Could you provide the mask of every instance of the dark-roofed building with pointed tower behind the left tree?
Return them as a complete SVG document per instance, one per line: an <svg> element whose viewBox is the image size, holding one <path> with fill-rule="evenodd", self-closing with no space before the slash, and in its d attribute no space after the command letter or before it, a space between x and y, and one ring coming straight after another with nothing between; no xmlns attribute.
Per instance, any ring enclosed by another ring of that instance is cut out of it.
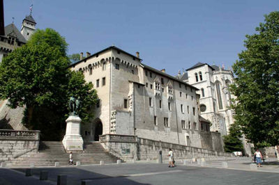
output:
<svg viewBox="0 0 279 185"><path fill-rule="evenodd" d="M23 19L21 31L14 23L5 26L2 35L0 35L0 63L4 56L27 43L27 40L36 31L35 26L36 22L31 14Z"/></svg>

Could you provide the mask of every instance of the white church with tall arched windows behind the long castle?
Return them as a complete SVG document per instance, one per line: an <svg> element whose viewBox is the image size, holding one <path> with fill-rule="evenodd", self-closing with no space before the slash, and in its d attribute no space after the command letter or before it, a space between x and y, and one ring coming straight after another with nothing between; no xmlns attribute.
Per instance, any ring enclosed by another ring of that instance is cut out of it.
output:
<svg viewBox="0 0 279 185"><path fill-rule="evenodd" d="M212 123L211 131L227 135L229 125L234 122L231 108L234 95L229 92L229 84L234 81L232 71L216 65L197 63L183 74L179 72L177 77L199 89L197 93L200 95L201 115Z"/></svg>

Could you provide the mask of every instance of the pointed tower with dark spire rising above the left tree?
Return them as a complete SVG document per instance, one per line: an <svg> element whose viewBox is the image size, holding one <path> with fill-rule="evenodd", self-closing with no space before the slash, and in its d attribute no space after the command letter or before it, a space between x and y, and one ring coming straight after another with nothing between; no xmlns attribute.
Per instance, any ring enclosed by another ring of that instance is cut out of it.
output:
<svg viewBox="0 0 279 185"><path fill-rule="evenodd" d="M22 21L22 29L20 30L20 33L24 36L26 40L29 40L30 36L33 34L34 31L36 31L36 22L33 19L31 13L25 19Z"/></svg>

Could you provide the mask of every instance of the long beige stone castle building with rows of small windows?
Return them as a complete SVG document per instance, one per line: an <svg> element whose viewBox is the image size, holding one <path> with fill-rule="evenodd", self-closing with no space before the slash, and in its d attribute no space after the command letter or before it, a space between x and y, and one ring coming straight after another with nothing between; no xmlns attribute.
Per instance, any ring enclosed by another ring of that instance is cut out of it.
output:
<svg viewBox="0 0 279 185"><path fill-rule="evenodd" d="M210 122L199 115L198 88L145 65L138 52L112 46L82 55L70 69L82 71L99 97L94 120L82 125L84 140L134 135L223 151L220 133L211 132Z"/></svg>

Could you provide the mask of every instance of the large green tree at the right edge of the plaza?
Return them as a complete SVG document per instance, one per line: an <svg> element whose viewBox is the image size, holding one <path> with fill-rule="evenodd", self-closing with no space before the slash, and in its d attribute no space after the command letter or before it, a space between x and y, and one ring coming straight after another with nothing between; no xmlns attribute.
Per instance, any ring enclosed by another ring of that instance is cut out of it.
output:
<svg viewBox="0 0 279 185"><path fill-rule="evenodd" d="M259 146L279 143L279 12L265 15L246 50L233 65L231 86L236 95L235 120L250 142Z"/></svg>

